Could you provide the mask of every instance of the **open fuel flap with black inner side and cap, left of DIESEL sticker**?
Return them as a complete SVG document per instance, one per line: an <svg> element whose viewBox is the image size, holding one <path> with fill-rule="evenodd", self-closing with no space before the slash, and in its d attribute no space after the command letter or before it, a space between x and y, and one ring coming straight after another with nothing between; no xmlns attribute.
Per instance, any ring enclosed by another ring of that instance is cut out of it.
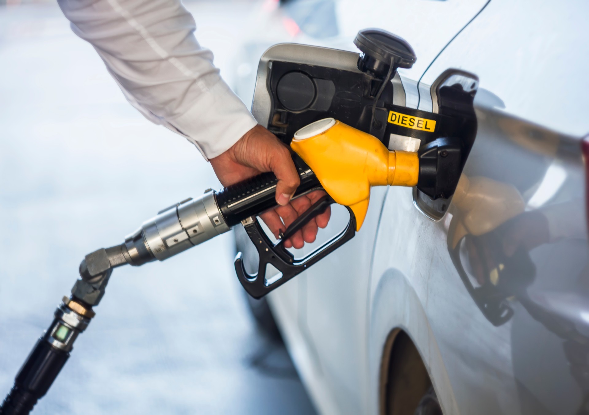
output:
<svg viewBox="0 0 589 415"><path fill-rule="evenodd" d="M416 56L406 41L379 29L360 31L355 44L362 53L294 43L264 52L252 104L257 121L286 144L298 129L329 117L388 144L383 107L393 103L395 89L389 81Z"/></svg>

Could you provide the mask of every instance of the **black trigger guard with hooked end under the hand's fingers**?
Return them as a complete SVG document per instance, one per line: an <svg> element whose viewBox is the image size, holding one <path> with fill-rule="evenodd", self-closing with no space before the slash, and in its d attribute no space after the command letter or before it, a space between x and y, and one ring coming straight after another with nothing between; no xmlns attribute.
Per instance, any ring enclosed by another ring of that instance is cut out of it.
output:
<svg viewBox="0 0 589 415"><path fill-rule="evenodd" d="M295 259L292 253L288 252L284 248L283 241L292 236L297 230L303 227L310 219L325 212L327 206L333 202L329 196L324 196L319 199L313 206L311 206L303 215L295 220L289 229L287 229L282 238L276 243L272 243L269 237L260 226L260 223L254 216L250 216L243 221L244 229L246 230L247 236L250 237L254 245L256 246L257 252L260 256L260 262L258 265L257 273L249 274L244 266L241 252L237 253L235 257L235 272L237 278L247 291L250 296L259 299L265 296L272 290L280 287L288 280L299 275L301 272L312 266L314 263L329 255L337 248L348 242L356 235L356 217L354 216L352 209L346 206L350 213L350 220L348 225L342 232L338 233L332 239L325 242L322 246L310 252L303 258ZM275 267L282 276L277 279L266 279L266 268L268 265Z"/></svg>

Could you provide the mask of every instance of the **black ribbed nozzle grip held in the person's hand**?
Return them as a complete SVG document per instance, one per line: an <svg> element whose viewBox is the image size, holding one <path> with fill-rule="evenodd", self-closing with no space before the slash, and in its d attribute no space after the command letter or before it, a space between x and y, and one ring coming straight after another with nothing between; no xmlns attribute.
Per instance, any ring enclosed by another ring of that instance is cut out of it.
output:
<svg viewBox="0 0 589 415"><path fill-rule="evenodd" d="M321 188L319 180L309 167L299 165L297 169L300 185L294 197ZM219 190L215 198L227 225L229 227L237 225L241 220L276 207L277 182L274 173L262 173Z"/></svg>

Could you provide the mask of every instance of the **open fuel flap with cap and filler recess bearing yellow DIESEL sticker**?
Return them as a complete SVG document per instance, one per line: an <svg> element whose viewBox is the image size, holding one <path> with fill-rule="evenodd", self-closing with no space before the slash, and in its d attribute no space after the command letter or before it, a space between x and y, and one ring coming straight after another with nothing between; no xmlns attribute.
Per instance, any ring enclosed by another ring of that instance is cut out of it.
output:
<svg viewBox="0 0 589 415"><path fill-rule="evenodd" d="M380 29L360 31L354 43L361 53L272 46L260 60L252 113L287 145L303 126L332 117L375 136L389 150L418 152L413 197L423 213L439 219L474 141L478 78L449 69L431 86L432 111L408 108L396 69L416 61L411 46Z"/></svg>

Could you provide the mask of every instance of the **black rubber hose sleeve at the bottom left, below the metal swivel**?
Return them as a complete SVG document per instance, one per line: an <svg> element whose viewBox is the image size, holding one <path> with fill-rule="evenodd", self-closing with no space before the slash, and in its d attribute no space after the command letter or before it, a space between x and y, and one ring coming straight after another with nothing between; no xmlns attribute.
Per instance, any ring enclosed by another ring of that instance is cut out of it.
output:
<svg viewBox="0 0 589 415"><path fill-rule="evenodd" d="M39 339L16 375L14 386L0 407L0 415L31 412L37 401L47 393L68 357L70 353Z"/></svg>

